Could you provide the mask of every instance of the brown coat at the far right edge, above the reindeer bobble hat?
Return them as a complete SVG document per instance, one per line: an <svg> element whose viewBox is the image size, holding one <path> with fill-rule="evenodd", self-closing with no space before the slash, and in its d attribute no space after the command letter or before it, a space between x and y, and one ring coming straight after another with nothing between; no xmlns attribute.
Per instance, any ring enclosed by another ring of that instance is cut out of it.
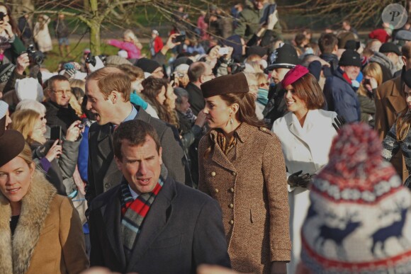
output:
<svg viewBox="0 0 411 274"><path fill-rule="evenodd" d="M381 86L378 87L375 101L376 101L376 130L378 135L383 141L385 135L394 125L395 120L397 120L398 113L407 108L407 103L405 103L405 95L403 90L404 83L401 81L401 76L395 79L385 81ZM395 170L400 176L402 176L402 181L408 177L408 171L405 167L404 157L402 156L401 150L393 156L391 159L391 164L395 167Z"/></svg>

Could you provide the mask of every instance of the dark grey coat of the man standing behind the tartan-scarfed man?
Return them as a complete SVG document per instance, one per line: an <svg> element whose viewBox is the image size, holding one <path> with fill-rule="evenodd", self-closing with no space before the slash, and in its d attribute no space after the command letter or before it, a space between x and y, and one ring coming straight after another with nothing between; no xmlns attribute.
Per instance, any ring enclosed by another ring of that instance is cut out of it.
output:
<svg viewBox="0 0 411 274"><path fill-rule="evenodd" d="M154 127L162 144L162 160L169 170L169 176L176 181L185 181L184 152L179 142L174 138L171 127L162 120L152 118L139 106L136 120L148 122ZM121 181L113 152L113 134L111 123L98 125L94 123L89 130L89 164L87 174L89 182L86 185L86 199L91 202L97 195L106 192Z"/></svg>

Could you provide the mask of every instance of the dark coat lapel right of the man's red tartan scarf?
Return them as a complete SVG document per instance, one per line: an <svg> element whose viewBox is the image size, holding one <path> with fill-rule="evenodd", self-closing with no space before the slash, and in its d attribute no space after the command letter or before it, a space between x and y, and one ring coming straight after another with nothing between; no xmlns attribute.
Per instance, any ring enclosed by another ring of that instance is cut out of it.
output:
<svg viewBox="0 0 411 274"><path fill-rule="evenodd" d="M135 243L133 253L131 253L130 256L127 272L132 272L132 270L135 269L135 264L140 261L140 258L145 254L147 249L150 248L152 242L162 233L164 227L166 227L167 221L173 213L171 202L175 196L175 182L167 178L142 224L142 230Z"/></svg>

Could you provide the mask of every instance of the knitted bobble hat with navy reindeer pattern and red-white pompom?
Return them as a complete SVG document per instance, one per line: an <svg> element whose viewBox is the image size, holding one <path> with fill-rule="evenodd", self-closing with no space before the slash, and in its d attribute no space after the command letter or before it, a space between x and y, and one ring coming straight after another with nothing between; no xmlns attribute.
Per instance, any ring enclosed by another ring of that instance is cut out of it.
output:
<svg viewBox="0 0 411 274"><path fill-rule="evenodd" d="M342 127L301 229L312 273L411 273L411 193L368 125Z"/></svg>

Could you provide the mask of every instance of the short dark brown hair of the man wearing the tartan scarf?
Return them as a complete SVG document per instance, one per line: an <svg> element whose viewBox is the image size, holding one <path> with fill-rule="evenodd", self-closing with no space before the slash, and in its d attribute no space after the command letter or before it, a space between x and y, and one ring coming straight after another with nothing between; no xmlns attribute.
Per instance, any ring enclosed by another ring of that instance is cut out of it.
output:
<svg viewBox="0 0 411 274"><path fill-rule="evenodd" d="M161 147L159 137L156 130L152 125L141 120L130 120L127 122L122 122L114 131L113 134L113 151L114 155L123 160L123 155L121 154L121 145L123 140L126 139L128 142L133 144L133 146L140 146L146 142L147 135L154 139L156 144L157 152Z"/></svg>

